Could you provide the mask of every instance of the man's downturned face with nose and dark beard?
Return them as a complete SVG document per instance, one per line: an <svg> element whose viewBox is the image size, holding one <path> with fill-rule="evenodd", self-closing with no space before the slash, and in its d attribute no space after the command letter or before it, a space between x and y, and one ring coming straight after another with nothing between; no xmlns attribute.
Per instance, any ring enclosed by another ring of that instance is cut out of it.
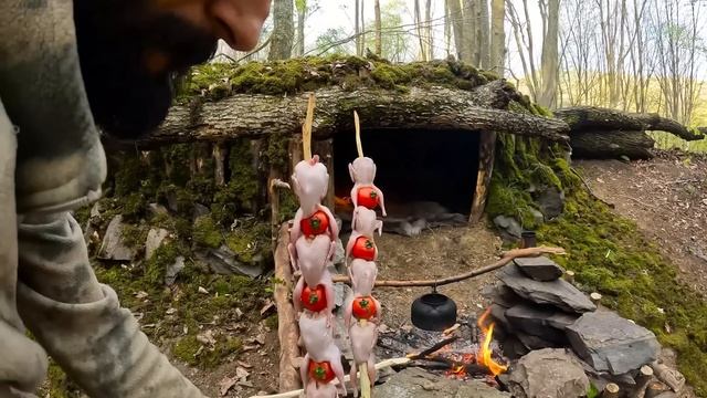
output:
<svg viewBox="0 0 707 398"><path fill-rule="evenodd" d="M81 70L96 124L119 138L157 127L171 81L217 40L251 50L271 0L74 0Z"/></svg>

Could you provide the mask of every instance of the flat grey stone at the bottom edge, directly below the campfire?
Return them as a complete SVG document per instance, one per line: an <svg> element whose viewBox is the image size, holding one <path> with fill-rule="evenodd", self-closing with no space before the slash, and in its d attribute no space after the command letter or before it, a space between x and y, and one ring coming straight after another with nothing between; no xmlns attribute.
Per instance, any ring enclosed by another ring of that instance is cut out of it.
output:
<svg viewBox="0 0 707 398"><path fill-rule="evenodd" d="M461 381L434 375L421 368L405 368L373 387L372 396L386 398L503 398L508 392L481 380Z"/></svg>

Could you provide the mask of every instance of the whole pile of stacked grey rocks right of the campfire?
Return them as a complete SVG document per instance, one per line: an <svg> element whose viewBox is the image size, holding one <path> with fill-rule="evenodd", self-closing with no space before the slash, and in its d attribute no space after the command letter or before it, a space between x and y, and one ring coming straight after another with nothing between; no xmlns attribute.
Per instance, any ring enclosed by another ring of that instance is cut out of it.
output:
<svg viewBox="0 0 707 398"><path fill-rule="evenodd" d="M655 335L598 308L563 273L545 256L517 259L485 292L504 355L518 359L502 381L515 397L577 397L589 381L635 392L642 367L657 366Z"/></svg>

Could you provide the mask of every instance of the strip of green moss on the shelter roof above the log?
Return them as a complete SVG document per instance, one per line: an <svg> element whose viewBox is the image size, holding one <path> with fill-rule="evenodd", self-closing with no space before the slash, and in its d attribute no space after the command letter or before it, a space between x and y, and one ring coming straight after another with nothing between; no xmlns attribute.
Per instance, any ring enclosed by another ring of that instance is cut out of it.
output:
<svg viewBox="0 0 707 398"><path fill-rule="evenodd" d="M409 86L436 84L472 90L496 78L498 76L493 72L479 72L458 62L392 64L376 56L361 59L335 54L266 63L197 66L178 86L177 101L192 104L196 97L217 101L234 93L292 95L326 86L349 91L359 87L407 91Z"/></svg>

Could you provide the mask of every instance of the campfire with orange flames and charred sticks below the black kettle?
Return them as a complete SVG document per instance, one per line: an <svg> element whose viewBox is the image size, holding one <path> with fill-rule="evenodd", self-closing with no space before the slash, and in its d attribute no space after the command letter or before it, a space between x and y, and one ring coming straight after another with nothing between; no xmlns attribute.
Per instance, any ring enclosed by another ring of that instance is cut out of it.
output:
<svg viewBox="0 0 707 398"><path fill-rule="evenodd" d="M494 323L486 311L476 322L461 321L453 331L429 332L414 326L381 333L381 357L411 356L413 366L458 380L478 379L497 386L496 376L507 367L494 342ZM430 342L439 342L430 346ZM426 346L426 347L425 347ZM410 354L416 353L416 354Z"/></svg>

